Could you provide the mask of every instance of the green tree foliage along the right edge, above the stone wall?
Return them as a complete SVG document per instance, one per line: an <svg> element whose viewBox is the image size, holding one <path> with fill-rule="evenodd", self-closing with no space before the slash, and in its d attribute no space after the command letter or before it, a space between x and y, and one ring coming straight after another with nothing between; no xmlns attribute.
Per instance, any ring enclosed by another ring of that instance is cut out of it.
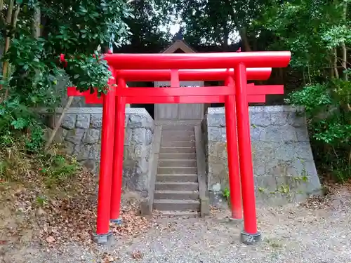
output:
<svg viewBox="0 0 351 263"><path fill-rule="evenodd" d="M263 25L277 39L270 48L292 51L303 75L287 102L305 106L315 158L338 180L351 175L351 45L349 0L299 0L265 9Z"/></svg>

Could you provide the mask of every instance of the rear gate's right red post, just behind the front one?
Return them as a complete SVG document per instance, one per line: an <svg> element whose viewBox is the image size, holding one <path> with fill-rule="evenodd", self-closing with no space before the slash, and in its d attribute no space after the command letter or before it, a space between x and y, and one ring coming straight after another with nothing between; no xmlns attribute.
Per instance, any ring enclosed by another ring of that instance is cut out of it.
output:
<svg viewBox="0 0 351 263"><path fill-rule="evenodd" d="M227 76L225 86L234 88L234 79ZM238 159L238 140L237 140L237 116L235 113L234 95L225 96L225 127L227 131L227 155L228 155L228 174L230 185L230 208L232 210L232 220L242 218L241 210L241 189Z"/></svg>

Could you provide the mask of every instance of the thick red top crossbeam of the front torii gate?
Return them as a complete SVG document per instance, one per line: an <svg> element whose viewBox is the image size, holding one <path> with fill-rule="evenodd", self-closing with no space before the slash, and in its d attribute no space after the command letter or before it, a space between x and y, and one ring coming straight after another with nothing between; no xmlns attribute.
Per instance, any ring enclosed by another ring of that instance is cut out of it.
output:
<svg viewBox="0 0 351 263"><path fill-rule="evenodd" d="M289 51L105 54L114 69L231 69L243 63L248 67L287 67Z"/></svg>

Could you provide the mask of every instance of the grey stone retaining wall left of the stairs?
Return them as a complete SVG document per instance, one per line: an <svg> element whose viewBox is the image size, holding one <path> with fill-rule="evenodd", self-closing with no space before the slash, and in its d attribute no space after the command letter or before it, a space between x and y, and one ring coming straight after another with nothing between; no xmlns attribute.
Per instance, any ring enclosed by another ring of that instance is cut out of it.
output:
<svg viewBox="0 0 351 263"><path fill-rule="evenodd" d="M56 120L62 109L56 111ZM51 118L53 128L54 118ZM140 191L149 188L149 159L154 135L154 120L145 109L126 108L126 133L124 140L124 188ZM70 108L65 115L55 142L64 143L67 154L77 156L77 161L98 173L102 108Z"/></svg>

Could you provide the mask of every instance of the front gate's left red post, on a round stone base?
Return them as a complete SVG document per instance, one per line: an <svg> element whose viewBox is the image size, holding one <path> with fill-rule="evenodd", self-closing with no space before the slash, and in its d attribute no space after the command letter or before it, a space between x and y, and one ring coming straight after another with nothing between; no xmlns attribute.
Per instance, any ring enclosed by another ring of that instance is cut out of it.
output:
<svg viewBox="0 0 351 263"><path fill-rule="evenodd" d="M110 68L113 72L113 69ZM112 233L110 232L110 203L111 203L111 182L114 145L114 110L116 79L112 77L108 84L110 90L103 97L102 108L102 135L101 135L101 158L100 177L98 193L98 218L96 234L93 234L93 241L96 243L107 243Z"/></svg>

